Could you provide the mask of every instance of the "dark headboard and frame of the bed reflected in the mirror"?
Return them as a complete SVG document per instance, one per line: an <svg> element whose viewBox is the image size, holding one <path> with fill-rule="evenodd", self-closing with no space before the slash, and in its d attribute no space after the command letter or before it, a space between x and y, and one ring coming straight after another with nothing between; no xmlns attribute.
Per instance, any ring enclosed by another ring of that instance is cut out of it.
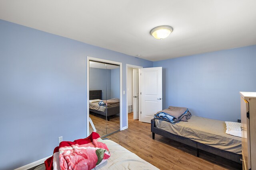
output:
<svg viewBox="0 0 256 170"><path fill-rule="evenodd" d="M89 91L89 100L94 100L94 99L102 100L102 90L90 90ZM94 115L96 113L100 114L100 115L104 115L104 116L107 115L108 121L110 121L110 116L120 113L120 105L106 107L105 111L98 111L98 110L94 110L94 109L90 109L90 108L89 108L89 111L94 113Z"/></svg>

